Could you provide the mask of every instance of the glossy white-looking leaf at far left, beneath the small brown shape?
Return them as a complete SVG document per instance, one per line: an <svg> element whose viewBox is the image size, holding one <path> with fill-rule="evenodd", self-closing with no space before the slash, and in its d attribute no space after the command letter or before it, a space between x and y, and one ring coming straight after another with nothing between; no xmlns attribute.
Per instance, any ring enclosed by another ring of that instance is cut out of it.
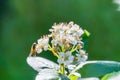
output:
<svg viewBox="0 0 120 80"><path fill-rule="evenodd" d="M32 57L29 56L27 57L27 63L36 71L40 72L43 69L54 69L54 70L58 70L59 66L58 64L42 58L42 57Z"/></svg>

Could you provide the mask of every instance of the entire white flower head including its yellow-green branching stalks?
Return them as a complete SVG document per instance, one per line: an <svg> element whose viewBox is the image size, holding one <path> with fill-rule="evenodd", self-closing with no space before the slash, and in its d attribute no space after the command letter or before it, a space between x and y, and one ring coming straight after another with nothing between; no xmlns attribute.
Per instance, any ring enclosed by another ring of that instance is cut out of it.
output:
<svg viewBox="0 0 120 80"><path fill-rule="evenodd" d="M82 35L85 31L73 22L54 24L50 34L38 39L36 52L41 53L43 50L49 50L58 58L57 62L64 65L76 66L85 62L88 58L87 53L83 50L84 43Z"/></svg>

